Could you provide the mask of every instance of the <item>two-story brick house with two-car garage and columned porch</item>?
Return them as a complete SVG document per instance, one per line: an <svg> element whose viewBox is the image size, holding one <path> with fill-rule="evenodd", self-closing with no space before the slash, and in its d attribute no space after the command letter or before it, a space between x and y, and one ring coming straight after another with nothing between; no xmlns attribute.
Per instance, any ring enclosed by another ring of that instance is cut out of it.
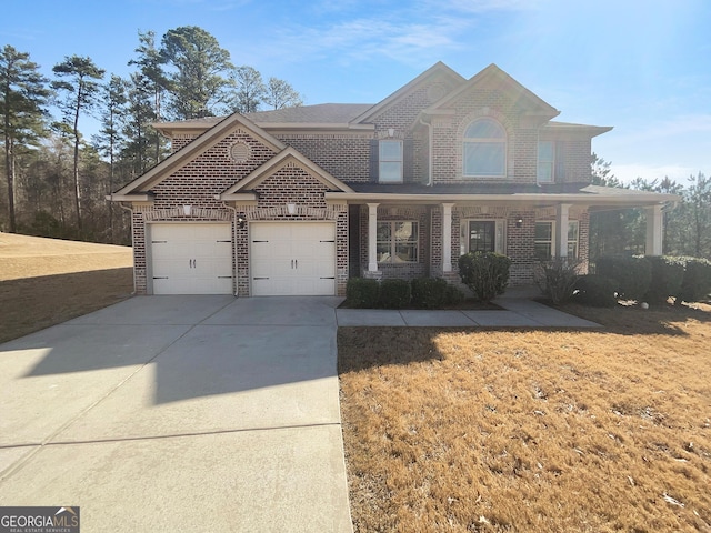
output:
<svg viewBox="0 0 711 533"><path fill-rule="evenodd" d="M344 294L349 276L457 280L461 253L588 257L592 210L644 207L648 253L675 197L590 184L610 128L491 64L437 63L377 104L157 124L172 154L113 193L130 207L138 293Z"/></svg>

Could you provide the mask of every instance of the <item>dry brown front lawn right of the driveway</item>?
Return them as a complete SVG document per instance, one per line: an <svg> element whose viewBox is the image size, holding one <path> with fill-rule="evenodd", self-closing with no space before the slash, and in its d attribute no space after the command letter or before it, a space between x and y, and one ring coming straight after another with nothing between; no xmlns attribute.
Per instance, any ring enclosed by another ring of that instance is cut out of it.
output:
<svg viewBox="0 0 711 533"><path fill-rule="evenodd" d="M356 530L711 531L711 308L339 330Z"/></svg>

